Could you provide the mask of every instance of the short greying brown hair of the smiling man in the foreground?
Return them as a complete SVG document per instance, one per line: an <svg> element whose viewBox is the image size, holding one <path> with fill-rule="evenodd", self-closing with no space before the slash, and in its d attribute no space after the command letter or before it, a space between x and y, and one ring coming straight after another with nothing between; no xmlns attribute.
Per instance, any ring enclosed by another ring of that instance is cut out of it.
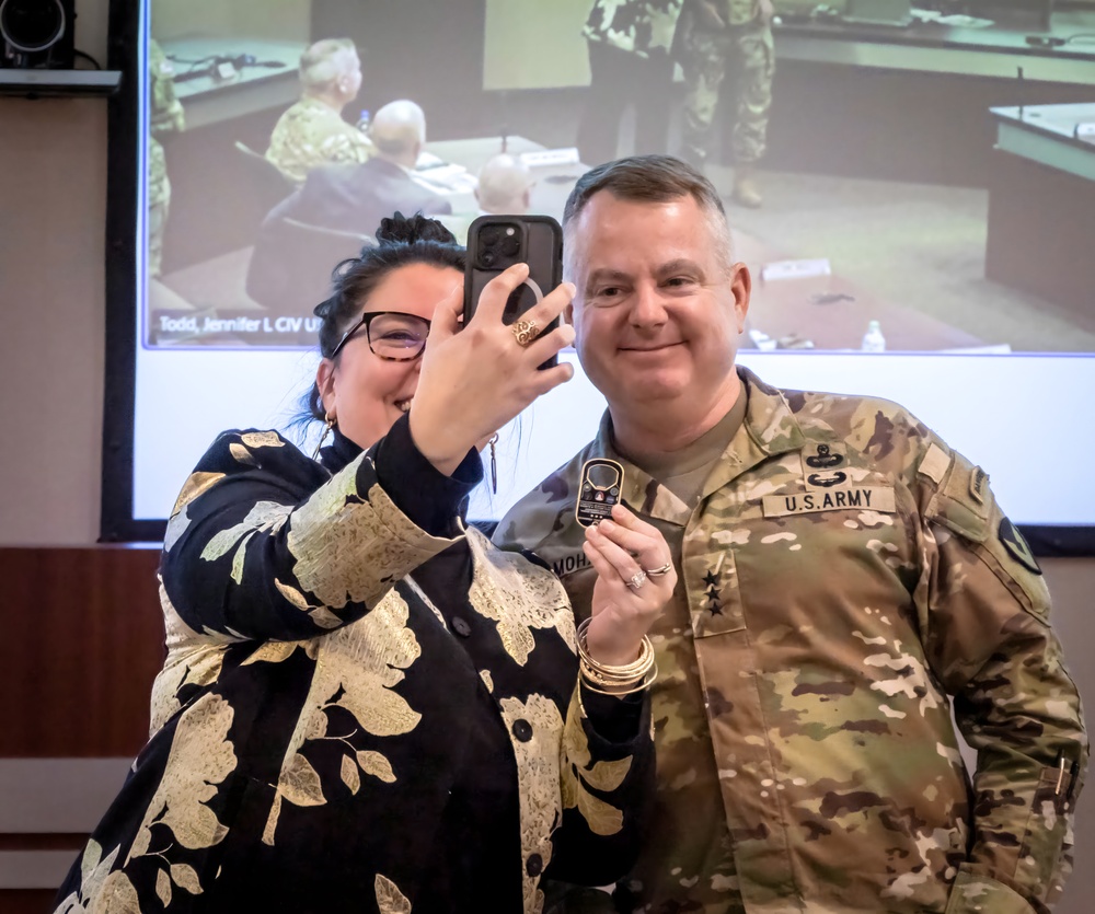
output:
<svg viewBox="0 0 1095 914"><path fill-rule="evenodd" d="M726 210L718 192L700 172L672 155L631 155L606 162L586 172L566 198L563 209L563 275L574 281L577 274L575 223L595 194L607 190L629 203L665 204L692 197L707 221L719 264L729 274L734 244Z"/></svg>

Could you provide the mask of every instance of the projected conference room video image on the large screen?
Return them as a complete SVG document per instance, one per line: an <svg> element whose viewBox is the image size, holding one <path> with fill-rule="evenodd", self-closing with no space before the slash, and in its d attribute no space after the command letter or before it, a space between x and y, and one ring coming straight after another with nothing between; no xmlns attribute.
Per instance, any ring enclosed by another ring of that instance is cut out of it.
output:
<svg viewBox="0 0 1095 914"><path fill-rule="evenodd" d="M141 345L314 348L332 269L377 228L354 182L403 170L392 209L462 239L669 152L724 196L747 349L1095 351L1095 2L774 0L699 102L681 4L601 21L616 5L151 4ZM499 155L523 200L492 186Z"/></svg>

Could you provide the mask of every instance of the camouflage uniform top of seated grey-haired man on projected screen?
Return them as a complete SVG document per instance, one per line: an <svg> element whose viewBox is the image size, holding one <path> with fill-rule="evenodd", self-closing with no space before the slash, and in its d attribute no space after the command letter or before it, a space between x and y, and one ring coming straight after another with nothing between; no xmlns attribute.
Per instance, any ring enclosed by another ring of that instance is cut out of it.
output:
<svg viewBox="0 0 1095 914"><path fill-rule="evenodd" d="M303 97L278 118L266 158L293 184L318 165L365 162L372 142L318 99Z"/></svg>

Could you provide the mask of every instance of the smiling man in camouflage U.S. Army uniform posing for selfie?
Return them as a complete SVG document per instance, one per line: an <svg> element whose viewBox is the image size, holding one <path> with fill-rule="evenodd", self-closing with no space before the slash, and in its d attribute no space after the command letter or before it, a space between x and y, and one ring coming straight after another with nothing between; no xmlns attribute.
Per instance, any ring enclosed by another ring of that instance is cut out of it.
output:
<svg viewBox="0 0 1095 914"><path fill-rule="evenodd" d="M538 553L587 614L575 496L610 458L680 576L652 633L657 810L618 910L1048 911L1087 737L1041 571L986 473L894 403L735 367L749 271L683 162L584 175L564 256L609 408L495 540Z"/></svg>

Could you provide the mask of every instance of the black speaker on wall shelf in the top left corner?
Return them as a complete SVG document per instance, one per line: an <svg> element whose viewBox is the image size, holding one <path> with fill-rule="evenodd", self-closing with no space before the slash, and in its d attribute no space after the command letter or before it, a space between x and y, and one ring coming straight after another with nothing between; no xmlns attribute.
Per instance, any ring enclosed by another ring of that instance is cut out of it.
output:
<svg viewBox="0 0 1095 914"><path fill-rule="evenodd" d="M0 67L72 69L76 0L0 0Z"/></svg>

